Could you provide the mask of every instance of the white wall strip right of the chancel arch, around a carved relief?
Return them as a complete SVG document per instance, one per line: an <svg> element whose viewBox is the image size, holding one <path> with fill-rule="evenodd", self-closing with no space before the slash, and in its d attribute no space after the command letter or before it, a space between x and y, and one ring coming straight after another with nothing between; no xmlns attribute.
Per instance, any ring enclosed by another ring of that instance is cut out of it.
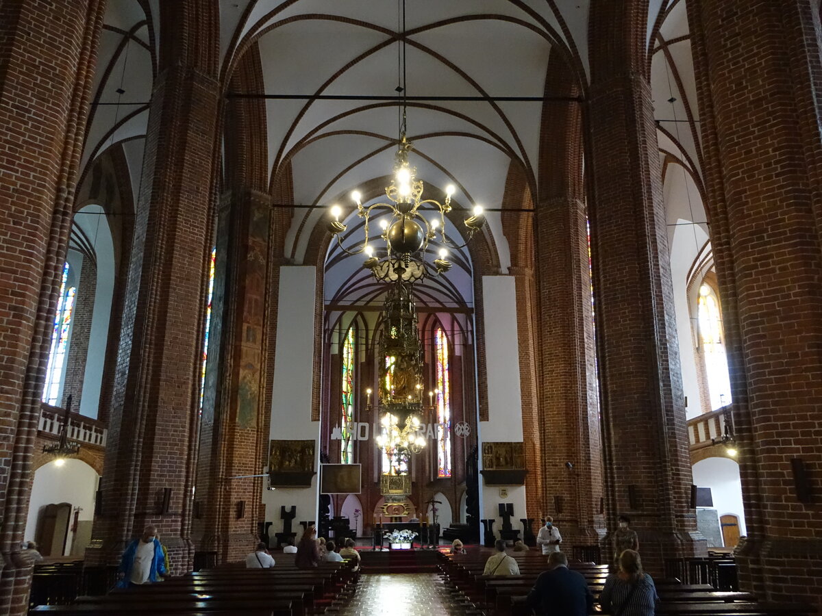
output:
<svg viewBox="0 0 822 616"><path fill-rule="evenodd" d="M522 391L520 390L520 347L516 324L514 278L483 276L483 312L485 319L485 357L487 365L488 421L481 421L479 443L522 442ZM483 456L479 456L482 469ZM480 513L483 519L496 519L494 531L499 536L502 518L498 503L514 504L514 520L525 517L525 486L507 486L506 499L499 486L485 485L480 476ZM518 522L512 522L514 528Z"/></svg>

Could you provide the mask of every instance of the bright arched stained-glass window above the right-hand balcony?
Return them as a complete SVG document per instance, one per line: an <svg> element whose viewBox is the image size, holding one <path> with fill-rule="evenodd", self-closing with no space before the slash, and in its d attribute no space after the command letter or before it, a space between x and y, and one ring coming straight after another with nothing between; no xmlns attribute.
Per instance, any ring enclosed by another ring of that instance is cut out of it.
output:
<svg viewBox="0 0 822 616"><path fill-rule="evenodd" d="M731 381L727 372L727 356L723 342L722 317L713 287L700 287L699 312L700 344L708 377L711 410L716 411L731 403Z"/></svg>

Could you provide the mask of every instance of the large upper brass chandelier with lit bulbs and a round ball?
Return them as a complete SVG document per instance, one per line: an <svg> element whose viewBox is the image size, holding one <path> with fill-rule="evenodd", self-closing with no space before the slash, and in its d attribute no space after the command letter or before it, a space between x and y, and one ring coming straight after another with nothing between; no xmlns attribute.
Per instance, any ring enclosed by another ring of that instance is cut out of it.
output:
<svg viewBox="0 0 822 616"><path fill-rule="evenodd" d="M440 203L434 199L423 200L423 181L418 180L416 169L409 165L409 151L413 144L400 136L397 150L394 177L389 186L386 186L388 202L363 206L362 195L353 191L351 198L357 204L357 215L365 219L365 240L353 248L343 246L342 234L348 229L347 225L339 222L343 209L339 205L332 205L330 214L334 220L329 224L329 231L337 238L339 247L349 255L365 253L367 259L363 267L370 269L374 277L383 282L415 283L425 278L427 274L439 275L451 269L447 259L448 250L459 249L468 245L473 235L483 228L485 216L483 206L474 205L473 215L464 220L467 240L463 244L455 243L446 233L446 214L451 211L451 196L454 195L454 186L446 187L446 200ZM381 240L386 243L386 256L378 257L371 243L371 218L375 210L388 210L389 219L381 220ZM429 220L421 211L429 209L433 217ZM433 241L439 241L440 249L433 265L424 258L417 258L419 252L425 253Z"/></svg>

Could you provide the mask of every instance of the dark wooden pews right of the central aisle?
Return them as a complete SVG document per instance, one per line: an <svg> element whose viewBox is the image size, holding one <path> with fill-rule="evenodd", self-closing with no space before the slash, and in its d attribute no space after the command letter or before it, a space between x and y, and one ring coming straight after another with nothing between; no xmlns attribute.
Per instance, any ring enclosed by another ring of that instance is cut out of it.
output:
<svg viewBox="0 0 822 616"><path fill-rule="evenodd" d="M492 549L477 546L468 546L467 554L443 552L441 572L450 585L485 609L488 616L528 616L531 610L525 605L525 597L538 575L545 571L547 557L537 549L521 553L509 551L508 554L517 559L522 575L485 576L485 561L493 553ZM598 602L608 566L571 563L570 568L585 577ZM677 578L663 578L655 579L654 584L660 599L656 613L660 616L807 616L815 613L807 605L763 603L750 593L719 591L706 583L687 584ZM596 608L598 614L607 614L599 605Z"/></svg>

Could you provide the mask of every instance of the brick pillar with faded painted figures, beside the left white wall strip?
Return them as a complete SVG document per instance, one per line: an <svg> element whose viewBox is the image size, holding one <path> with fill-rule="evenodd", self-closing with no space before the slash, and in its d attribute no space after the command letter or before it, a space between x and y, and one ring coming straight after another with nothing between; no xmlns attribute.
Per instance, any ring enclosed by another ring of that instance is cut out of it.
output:
<svg viewBox="0 0 822 616"><path fill-rule="evenodd" d="M257 522L265 521L265 478L223 479L262 473L268 433L260 435L270 413L263 395L270 375L262 361L268 338L270 197L235 189L225 200L229 207L221 213L217 232L224 282L212 312L215 333L219 331L215 342L223 351L209 353L218 382L214 405L203 409L196 499L204 521L195 523L196 536L201 537L198 548L216 550L219 562L247 554L256 541ZM211 348L217 351L214 345ZM242 509L240 501L245 503Z"/></svg>

